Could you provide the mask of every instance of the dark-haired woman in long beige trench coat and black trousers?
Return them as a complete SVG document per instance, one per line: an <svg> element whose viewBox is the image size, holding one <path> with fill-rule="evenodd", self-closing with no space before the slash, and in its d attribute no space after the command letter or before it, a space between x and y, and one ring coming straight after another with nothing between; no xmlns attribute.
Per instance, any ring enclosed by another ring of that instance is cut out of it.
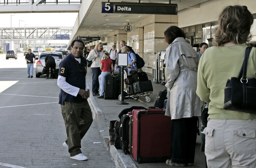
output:
<svg viewBox="0 0 256 168"><path fill-rule="evenodd" d="M203 102L196 94L199 55L185 41L185 33L177 26L164 32L166 48L165 75L168 99L165 115L170 116L172 151L167 165L194 165L197 122Z"/></svg>

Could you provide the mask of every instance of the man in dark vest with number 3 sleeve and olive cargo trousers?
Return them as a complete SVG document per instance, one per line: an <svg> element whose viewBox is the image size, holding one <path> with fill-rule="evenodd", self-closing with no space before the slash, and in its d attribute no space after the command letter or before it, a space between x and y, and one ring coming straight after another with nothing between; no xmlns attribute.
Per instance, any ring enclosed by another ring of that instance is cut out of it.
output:
<svg viewBox="0 0 256 168"><path fill-rule="evenodd" d="M93 122L87 99L90 90L87 80L86 60L82 57L84 43L74 40L71 53L59 64L59 104L66 126L67 138L63 146L69 150L70 158L87 160L81 152L81 139Z"/></svg>

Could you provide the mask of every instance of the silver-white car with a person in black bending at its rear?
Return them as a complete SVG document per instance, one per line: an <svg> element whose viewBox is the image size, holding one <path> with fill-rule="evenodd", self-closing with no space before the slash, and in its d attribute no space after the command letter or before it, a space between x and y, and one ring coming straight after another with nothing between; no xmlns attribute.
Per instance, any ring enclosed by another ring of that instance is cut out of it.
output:
<svg viewBox="0 0 256 168"><path fill-rule="evenodd" d="M36 63L36 77L39 78L41 75L44 75L43 73L43 68L45 66L45 57L47 55L51 55L53 56L53 58L55 59L55 63L56 63L56 72L59 72L59 63L62 61L62 59L64 58L62 52L56 52L56 51L49 51L49 52L42 52L38 59L37 59L37 63Z"/></svg>

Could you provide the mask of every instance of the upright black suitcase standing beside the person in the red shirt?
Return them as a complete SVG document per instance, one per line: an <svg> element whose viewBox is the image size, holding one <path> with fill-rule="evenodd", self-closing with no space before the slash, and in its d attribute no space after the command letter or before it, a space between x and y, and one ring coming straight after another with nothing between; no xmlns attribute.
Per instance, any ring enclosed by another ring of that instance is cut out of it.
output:
<svg viewBox="0 0 256 168"><path fill-rule="evenodd" d="M117 92L118 92L118 76L106 75L104 99L117 99L117 95L118 95Z"/></svg>

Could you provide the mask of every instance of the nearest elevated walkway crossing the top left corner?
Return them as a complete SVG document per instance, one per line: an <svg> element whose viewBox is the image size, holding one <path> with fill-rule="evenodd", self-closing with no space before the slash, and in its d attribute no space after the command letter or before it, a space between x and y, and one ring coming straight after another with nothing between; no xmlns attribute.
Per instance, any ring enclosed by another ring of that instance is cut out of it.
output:
<svg viewBox="0 0 256 168"><path fill-rule="evenodd" d="M0 0L0 13L79 12L82 0Z"/></svg>

